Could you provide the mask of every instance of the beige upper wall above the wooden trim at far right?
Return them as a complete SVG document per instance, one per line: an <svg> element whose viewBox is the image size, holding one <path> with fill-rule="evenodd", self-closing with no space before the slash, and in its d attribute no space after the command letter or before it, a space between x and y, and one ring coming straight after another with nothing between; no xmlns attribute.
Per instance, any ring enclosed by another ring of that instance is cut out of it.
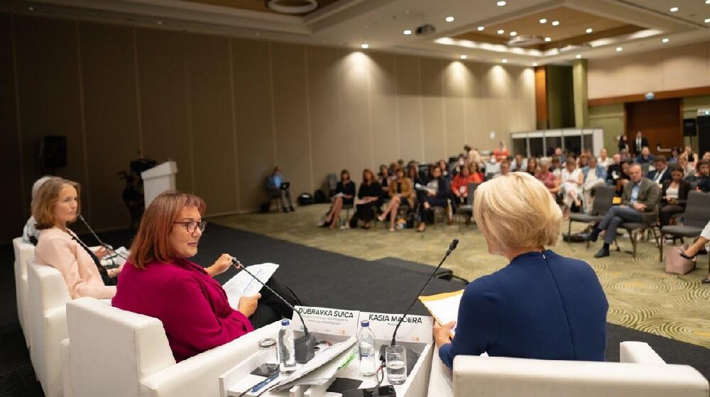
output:
<svg viewBox="0 0 710 397"><path fill-rule="evenodd" d="M710 86L710 42L589 60L589 99Z"/></svg>

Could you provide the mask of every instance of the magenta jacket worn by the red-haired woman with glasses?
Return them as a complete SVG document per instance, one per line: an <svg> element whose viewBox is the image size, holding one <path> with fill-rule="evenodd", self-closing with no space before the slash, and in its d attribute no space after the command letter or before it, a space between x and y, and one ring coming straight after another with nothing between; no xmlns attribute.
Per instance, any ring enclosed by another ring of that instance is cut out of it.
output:
<svg viewBox="0 0 710 397"><path fill-rule="evenodd" d="M186 259L151 262L146 269L126 262L111 304L162 321L177 362L254 330L229 306L217 280Z"/></svg>

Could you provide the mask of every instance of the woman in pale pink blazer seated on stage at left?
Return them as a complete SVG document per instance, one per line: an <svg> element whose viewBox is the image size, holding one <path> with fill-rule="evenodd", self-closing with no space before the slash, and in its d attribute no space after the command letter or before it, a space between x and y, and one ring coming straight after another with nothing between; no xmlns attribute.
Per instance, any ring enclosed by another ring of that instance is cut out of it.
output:
<svg viewBox="0 0 710 397"><path fill-rule="evenodd" d="M82 296L111 298L116 294L116 276L122 267L107 270L99 258L107 255L103 247L89 249L67 227L81 211L80 186L58 177L47 179L32 203L32 213L40 238L35 249L35 261L59 270L72 299Z"/></svg>

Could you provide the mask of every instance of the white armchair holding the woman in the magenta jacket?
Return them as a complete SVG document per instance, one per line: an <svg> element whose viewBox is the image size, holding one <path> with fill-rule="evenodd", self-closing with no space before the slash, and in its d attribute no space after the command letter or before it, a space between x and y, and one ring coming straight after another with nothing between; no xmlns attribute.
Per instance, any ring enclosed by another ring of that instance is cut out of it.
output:
<svg viewBox="0 0 710 397"><path fill-rule="evenodd" d="M175 363L163 323L94 298L67 304L65 386L76 397L217 396L219 376L276 337L279 323ZM64 342L66 345L66 341ZM67 396L69 397L69 396Z"/></svg>

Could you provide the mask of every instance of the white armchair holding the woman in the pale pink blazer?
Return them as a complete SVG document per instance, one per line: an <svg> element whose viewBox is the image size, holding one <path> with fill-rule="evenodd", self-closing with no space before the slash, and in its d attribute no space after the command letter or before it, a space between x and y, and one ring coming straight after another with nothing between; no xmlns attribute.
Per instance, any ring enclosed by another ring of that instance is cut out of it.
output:
<svg viewBox="0 0 710 397"><path fill-rule="evenodd" d="M27 264L27 320L32 347L30 359L47 397L61 397L60 342L67 337L66 304L71 301L62 274L33 260Z"/></svg>

